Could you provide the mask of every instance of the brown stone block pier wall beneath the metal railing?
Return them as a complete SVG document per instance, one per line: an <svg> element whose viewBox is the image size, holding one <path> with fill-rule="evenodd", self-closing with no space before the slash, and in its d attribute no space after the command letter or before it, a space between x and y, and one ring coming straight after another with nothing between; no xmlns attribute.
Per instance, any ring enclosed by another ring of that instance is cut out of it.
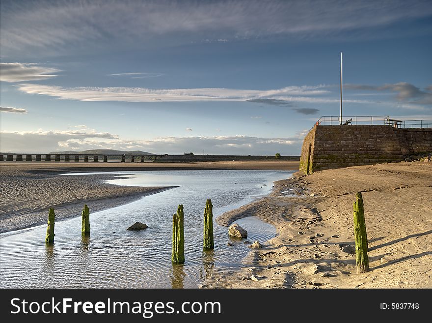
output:
<svg viewBox="0 0 432 323"><path fill-rule="evenodd" d="M407 155L432 152L432 128L393 128L386 125L316 125L301 148L300 171L401 161Z"/></svg>

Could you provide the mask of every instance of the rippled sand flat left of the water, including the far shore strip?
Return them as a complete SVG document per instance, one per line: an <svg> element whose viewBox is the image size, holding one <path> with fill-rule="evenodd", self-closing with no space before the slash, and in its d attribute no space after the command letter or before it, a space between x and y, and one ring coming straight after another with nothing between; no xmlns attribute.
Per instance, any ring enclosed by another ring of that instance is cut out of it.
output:
<svg viewBox="0 0 432 323"><path fill-rule="evenodd" d="M0 232L45 224L54 207L56 219L79 216L84 204L92 212L123 205L170 187L129 187L104 184L115 174L57 176L67 173L157 170L296 170L297 161L206 163L74 163L1 162ZM121 177L115 177L121 178Z"/></svg>

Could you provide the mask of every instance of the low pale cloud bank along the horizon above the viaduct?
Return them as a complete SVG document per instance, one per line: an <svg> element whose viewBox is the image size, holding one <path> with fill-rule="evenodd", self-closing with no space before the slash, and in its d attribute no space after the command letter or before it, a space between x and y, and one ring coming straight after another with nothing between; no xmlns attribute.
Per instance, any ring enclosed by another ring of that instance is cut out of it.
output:
<svg viewBox="0 0 432 323"><path fill-rule="evenodd" d="M281 154L299 153L305 132L289 138L253 136L189 136L159 137L151 140L122 139L117 135L95 130L1 131L3 151L47 152L56 149L85 150L93 148L144 150L155 153L179 153L205 149L209 154ZM35 149L37 147L37 150Z"/></svg>

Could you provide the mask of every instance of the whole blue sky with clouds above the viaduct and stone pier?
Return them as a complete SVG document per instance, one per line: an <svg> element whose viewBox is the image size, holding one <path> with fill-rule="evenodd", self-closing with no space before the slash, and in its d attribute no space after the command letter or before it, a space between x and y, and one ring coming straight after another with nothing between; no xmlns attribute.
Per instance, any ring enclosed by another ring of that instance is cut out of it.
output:
<svg viewBox="0 0 432 323"><path fill-rule="evenodd" d="M299 155L321 116L432 119L432 2L0 4L0 150Z"/></svg>

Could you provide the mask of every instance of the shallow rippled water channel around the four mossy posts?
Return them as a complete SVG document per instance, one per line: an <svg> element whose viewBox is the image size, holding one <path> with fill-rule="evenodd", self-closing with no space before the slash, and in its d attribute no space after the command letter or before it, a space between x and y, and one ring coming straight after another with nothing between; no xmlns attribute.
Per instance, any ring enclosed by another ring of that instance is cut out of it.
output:
<svg viewBox="0 0 432 323"><path fill-rule="evenodd" d="M88 173L87 173L88 174ZM133 203L92 213L91 235L81 236L81 216L55 224L54 245L44 242L46 225L0 235L1 288L195 288L213 270L237 267L250 251L214 221L215 249L204 251L203 212L211 198L214 219L225 211L270 193L281 171L116 172L128 179L108 182L135 186L179 186ZM131 175L133 174L133 175ZM186 263L171 264L172 214L184 204ZM89 204L91 212L91 204ZM139 221L149 228L127 231ZM255 217L236 221L247 240L275 235ZM227 242L231 241L232 246Z"/></svg>

